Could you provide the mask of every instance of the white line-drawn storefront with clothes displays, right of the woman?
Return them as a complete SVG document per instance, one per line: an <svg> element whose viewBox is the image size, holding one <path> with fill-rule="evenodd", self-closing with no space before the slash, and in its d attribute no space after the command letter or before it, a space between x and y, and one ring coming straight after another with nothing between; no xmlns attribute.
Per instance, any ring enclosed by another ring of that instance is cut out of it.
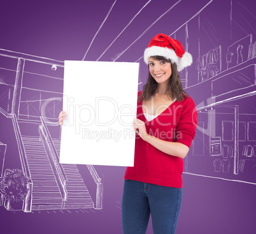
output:
<svg viewBox="0 0 256 234"><path fill-rule="evenodd" d="M227 48L226 68L218 68L217 74L206 79L202 79L197 63L201 78L185 89L191 94L202 93L196 100L198 127L186 159L188 174L256 185L254 44L252 34L234 42ZM245 49L243 55L241 48Z"/></svg>

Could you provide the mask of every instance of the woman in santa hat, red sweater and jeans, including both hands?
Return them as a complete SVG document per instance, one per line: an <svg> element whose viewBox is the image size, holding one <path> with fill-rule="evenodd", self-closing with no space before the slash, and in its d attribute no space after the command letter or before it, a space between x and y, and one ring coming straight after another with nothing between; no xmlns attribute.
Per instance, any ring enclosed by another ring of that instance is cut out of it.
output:
<svg viewBox="0 0 256 234"><path fill-rule="evenodd" d="M124 234L174 233L182 200L183 158L194 139L197 112L178 71L192 63L180 42L158 34L145 49L148 81L138 93L134 167L125 172ZM60 126L66 114L60 112Z"/></svg>

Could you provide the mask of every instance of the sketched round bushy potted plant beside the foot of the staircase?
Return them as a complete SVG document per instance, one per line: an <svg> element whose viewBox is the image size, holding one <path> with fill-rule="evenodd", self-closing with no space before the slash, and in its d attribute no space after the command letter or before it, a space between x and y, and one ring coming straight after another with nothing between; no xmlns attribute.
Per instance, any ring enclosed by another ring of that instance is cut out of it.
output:
<svg viewBox="0 0 256 234"><path fill-rule="evenodd" d="M6 169L0 182L0 192L5 198L4 207L8 211L22 211L24 200L29 189L29 179L19 169Z"/></svg>

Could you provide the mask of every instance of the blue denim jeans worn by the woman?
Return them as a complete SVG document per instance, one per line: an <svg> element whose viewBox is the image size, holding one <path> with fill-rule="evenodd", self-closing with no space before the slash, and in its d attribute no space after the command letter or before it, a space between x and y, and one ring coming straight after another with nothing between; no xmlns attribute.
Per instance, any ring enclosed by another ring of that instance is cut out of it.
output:
<svg viewBox="0 0 256 234"><path fill-rule="evenodd" d="M182 200L182 188L125 179L122 198L124 234L145 234L152 218L154 234L173 234Z"/></svg>

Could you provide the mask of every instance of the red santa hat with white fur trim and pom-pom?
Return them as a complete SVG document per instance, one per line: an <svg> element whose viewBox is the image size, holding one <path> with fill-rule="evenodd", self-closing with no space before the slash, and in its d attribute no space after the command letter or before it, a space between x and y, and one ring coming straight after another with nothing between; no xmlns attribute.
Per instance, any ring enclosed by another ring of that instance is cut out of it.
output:
<svg viewBox="0 0 256 234"><path fill-rule="evenodd" d="M192 56L184 51L181 43L165 34L157 34L148 44L144 52L146 64L150 56L163 56L171 60L172 63L176 63L179 72L192 63Z"/></svg>

